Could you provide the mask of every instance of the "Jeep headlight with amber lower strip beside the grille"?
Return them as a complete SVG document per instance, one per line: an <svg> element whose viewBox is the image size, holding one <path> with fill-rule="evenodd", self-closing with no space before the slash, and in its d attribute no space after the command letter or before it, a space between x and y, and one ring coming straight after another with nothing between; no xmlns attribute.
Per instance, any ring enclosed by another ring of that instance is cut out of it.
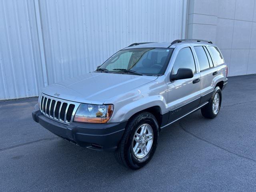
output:
<svg viewBox="0 0 256 192"><path fill-rule="evenodd" d="M80 104L76 115L75 122L82 123L106 123L112 116L114 105L94 105Z"/></svg>

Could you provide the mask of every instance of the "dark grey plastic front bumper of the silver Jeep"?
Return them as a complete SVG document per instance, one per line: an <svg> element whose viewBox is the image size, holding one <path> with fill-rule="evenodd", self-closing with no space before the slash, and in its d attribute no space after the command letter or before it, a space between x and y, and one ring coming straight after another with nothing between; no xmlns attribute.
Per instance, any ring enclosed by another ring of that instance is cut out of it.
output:
<svg viewBox="0 0 256 192"><path fill-rule="evenodd" d="M32 117L35 122L65 140L79 146L106 151L116 150L127 124L124 121L105 124L72 122L66 125L49 119L39 109L32 112Z"/></svg>

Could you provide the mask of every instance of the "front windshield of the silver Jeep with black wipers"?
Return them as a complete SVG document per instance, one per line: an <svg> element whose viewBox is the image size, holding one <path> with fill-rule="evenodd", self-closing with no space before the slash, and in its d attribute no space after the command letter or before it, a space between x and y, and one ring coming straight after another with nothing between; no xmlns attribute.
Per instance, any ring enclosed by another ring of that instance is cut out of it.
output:
<svg viewBox="0 0 256 192"><path fill-rule="evenodd" d="M163 75L173 48L120 50L98 68L101 72Z"/></svg>

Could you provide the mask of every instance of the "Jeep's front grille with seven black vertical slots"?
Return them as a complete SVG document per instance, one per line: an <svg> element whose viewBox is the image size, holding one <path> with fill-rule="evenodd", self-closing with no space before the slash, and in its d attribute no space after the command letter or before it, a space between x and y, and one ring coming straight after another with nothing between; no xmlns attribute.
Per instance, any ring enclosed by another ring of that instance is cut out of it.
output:
<svg viewBox="0 0 256 192"><path fill-rule="evenodd" d="M73 121L75 112L80 103L62 100L52 96L42 94L40 110L44 116L55 121L69 124Z"/></svg>

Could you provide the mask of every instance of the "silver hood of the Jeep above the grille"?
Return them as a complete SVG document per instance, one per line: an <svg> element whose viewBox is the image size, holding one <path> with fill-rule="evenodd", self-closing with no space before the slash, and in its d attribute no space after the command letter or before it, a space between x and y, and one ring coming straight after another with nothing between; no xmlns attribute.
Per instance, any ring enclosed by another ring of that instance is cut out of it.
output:
<svg viewBox="0 0 256 192"><path fill-rule="evenodd" d="M156 79L157 76L91 72L47 86L43 93L74 102L103 104L107 99Z"/></svg>

